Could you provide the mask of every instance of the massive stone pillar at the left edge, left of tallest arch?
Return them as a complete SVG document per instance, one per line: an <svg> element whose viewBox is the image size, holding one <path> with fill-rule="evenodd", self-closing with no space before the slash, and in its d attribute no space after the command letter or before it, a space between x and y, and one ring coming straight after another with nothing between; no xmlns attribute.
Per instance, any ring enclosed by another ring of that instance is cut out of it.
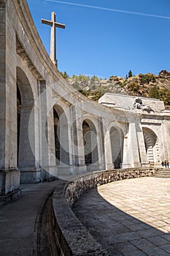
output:
<svg viewBox="0 0 170 256"><path fill-rule="evenodd" d="M7 1L0 1L0 200L1 196L9 193L14 195L20 185L20 172L17 168L17 118L15 119L17 102L12 97L16 95L16 45L12 28L12 40L7 34L6 3Z"/></svg>

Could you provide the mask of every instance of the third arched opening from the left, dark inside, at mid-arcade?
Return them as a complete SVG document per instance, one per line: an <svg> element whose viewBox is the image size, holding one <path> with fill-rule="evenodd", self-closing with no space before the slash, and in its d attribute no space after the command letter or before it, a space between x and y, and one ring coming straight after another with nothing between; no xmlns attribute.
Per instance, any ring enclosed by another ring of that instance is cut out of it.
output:
<svg viewBox="0 0 170 256"><path fill-rule="evenodd" d="M82 135L84 143L85 165L87 170L93 170L92 166L98 169L98 146L96 127L90 120L84 120L82 122Z"/></svg>

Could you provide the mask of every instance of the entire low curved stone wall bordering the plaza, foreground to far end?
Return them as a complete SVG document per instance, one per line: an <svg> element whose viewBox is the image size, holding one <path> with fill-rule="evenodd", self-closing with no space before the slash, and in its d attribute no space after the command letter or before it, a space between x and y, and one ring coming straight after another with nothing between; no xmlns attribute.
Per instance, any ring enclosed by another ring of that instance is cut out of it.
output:
<svg viewBox="0 0 170 256"><path fill-rule="evenodd" d="M125 178L152 176L157 168L98 171L76 176L72 181L58 180L53 194L55 241L61 255L108 255L72 211L72 206L88 189ZM70 206L70 207L69 207Z"/></svg>

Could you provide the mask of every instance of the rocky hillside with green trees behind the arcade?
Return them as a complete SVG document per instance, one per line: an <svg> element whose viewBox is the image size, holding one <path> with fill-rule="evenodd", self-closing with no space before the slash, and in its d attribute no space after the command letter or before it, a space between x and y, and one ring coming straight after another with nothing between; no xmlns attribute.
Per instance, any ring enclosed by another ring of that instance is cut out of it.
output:
<svg viewBox="0 0 170 256"><path fill-rule="evenodd" d="M166 70L162 70L158 75L147 73L131 78L111 76L109 80L97 78L95 75L92 78L85 75L73 75L69 78L66 72L62 75L78 91L94 101L105 92L112 92L161 99L166 108L170 109L170 72Z"/></svg>

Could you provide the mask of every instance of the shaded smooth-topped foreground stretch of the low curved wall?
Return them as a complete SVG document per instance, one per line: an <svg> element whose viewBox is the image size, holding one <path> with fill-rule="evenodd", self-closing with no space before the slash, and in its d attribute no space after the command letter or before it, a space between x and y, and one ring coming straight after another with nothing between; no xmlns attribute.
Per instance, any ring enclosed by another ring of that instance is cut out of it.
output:
<svg viewBox="0 0 170 256"><path fill-rule="evenodd" d="M55 241L61 249L61 255L107 256L107 251L95 241L66 202L65 185L66 181L58 181L53 194Z"/></svg>

